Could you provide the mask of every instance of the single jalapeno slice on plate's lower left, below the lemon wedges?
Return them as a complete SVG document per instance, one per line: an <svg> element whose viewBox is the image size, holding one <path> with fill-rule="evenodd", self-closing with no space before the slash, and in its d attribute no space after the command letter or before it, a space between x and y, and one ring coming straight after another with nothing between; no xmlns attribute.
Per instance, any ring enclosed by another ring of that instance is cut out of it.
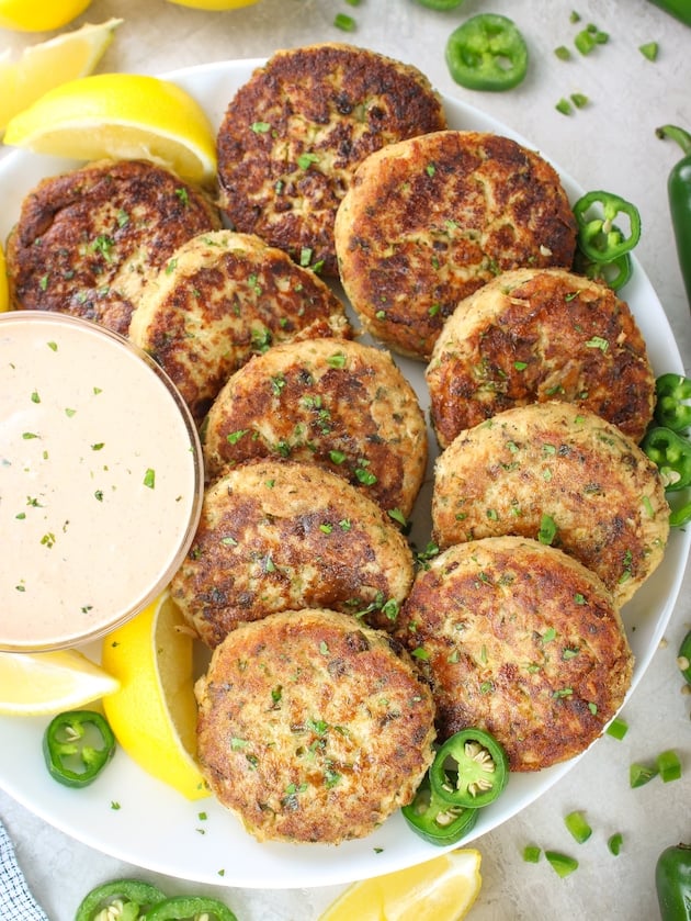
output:
<svg viewBox="0 0 691 921"><path fill-rule="evenodd" d="M92 784L115 753L115 735L95 710L58 714L43 735L50 776L67 787Z"/></svg>

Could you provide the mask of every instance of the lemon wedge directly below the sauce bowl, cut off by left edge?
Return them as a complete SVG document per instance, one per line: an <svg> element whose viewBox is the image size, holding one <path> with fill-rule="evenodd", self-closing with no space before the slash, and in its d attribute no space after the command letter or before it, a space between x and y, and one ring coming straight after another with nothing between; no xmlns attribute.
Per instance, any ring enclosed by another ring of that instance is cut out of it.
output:
<svg viewBox="0 0 691 921"><path fill-rule="evenodd" d="M0 714L38 716L82 707L120 683L73 649L0 652Z"/></svg>

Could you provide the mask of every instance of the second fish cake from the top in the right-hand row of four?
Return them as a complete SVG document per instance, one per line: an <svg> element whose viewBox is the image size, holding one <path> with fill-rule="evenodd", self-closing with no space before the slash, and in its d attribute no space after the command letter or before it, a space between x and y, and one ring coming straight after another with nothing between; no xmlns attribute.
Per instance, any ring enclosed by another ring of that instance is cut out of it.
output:
<svg viewBox="0 0 691 921"><path fill-rule="evenodd" d="M426 371L442 448L513 406L566 400L634 441L655 407L655 374L628 305L565 269L516 269L458 304Z"/></svg>

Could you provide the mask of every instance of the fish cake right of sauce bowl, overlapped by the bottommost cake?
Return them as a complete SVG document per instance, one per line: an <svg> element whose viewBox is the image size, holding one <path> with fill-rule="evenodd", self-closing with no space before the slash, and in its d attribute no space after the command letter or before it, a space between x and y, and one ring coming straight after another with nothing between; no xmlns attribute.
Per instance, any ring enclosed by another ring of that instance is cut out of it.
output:
<svg viewBox="0 0 691 921"><path fill-rule="evenodd" d="M208 645L281 610L328 607L392 630L412 553L382 509L316 464L248 461L207 487L171 593Z"/></svg>

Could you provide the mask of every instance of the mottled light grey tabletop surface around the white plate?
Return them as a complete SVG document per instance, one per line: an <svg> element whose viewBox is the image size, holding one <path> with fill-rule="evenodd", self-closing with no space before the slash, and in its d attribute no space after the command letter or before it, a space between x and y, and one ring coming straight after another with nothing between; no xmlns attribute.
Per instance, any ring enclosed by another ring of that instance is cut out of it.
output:
<svg viewBox="0 0 691 921"><path fill-rule="evenodd" d="M590 57L576 54L562 63L553 49L571 42L576 31L569 23L571 9L584 23L596 23L611 37ZM466 16L483 11L512 16L530 45L529 77L510 93L466 92L448 75L443 58L448 34ZM358 31L347 35L336 30L338 12L353 15ZM212 60L264 57L279 47L325 40L352 41L416 64L438 89L484 109L530 138L584 188L612 189L637 203L644 234L636 252L669 317L689 373L691 315L666 196L667 173L679 154L675 145L655 137L655 127L671 122L691 128L691 29L646 0L466 0L448 13L423 9L415 0L362 0L356 8L346 0L260 0L227 13L186 10L165 0L94 0L75 25L111 15L123 16L125 23L101 70L156 74ZM21 48L42 37L0 30L0 48ZM650 41L660 46L654 64L637 50ZM558 114L557 100L576 91L587 94L590 105L571 117ZM675 665L676 650L691 626L690 587L687 573L667 645L657 651L624 709L630 723L626 739L603 739L539 801L474 842L483 854L484 885L473 921L657 917L655 860L668 844L691 840L691 697L682 696ZM680 752L683 778L631 790L628 764L654 759L667 748ZM585 809L593 825L585 845L577 845L564 828L563 817L571 809ZM55 831L3 793L0 816L52 921L71 921L81 896L98 883L137 873ZM614 831L624 835L619 857L607 849ZM522 849L531 842L577 856L578 872L562 880L544 860L537 865L523 863ZM184 880L160 881L171 891L200 889ZM339 890L222 889L219 895L240 921L315 921Z"/></svg>

